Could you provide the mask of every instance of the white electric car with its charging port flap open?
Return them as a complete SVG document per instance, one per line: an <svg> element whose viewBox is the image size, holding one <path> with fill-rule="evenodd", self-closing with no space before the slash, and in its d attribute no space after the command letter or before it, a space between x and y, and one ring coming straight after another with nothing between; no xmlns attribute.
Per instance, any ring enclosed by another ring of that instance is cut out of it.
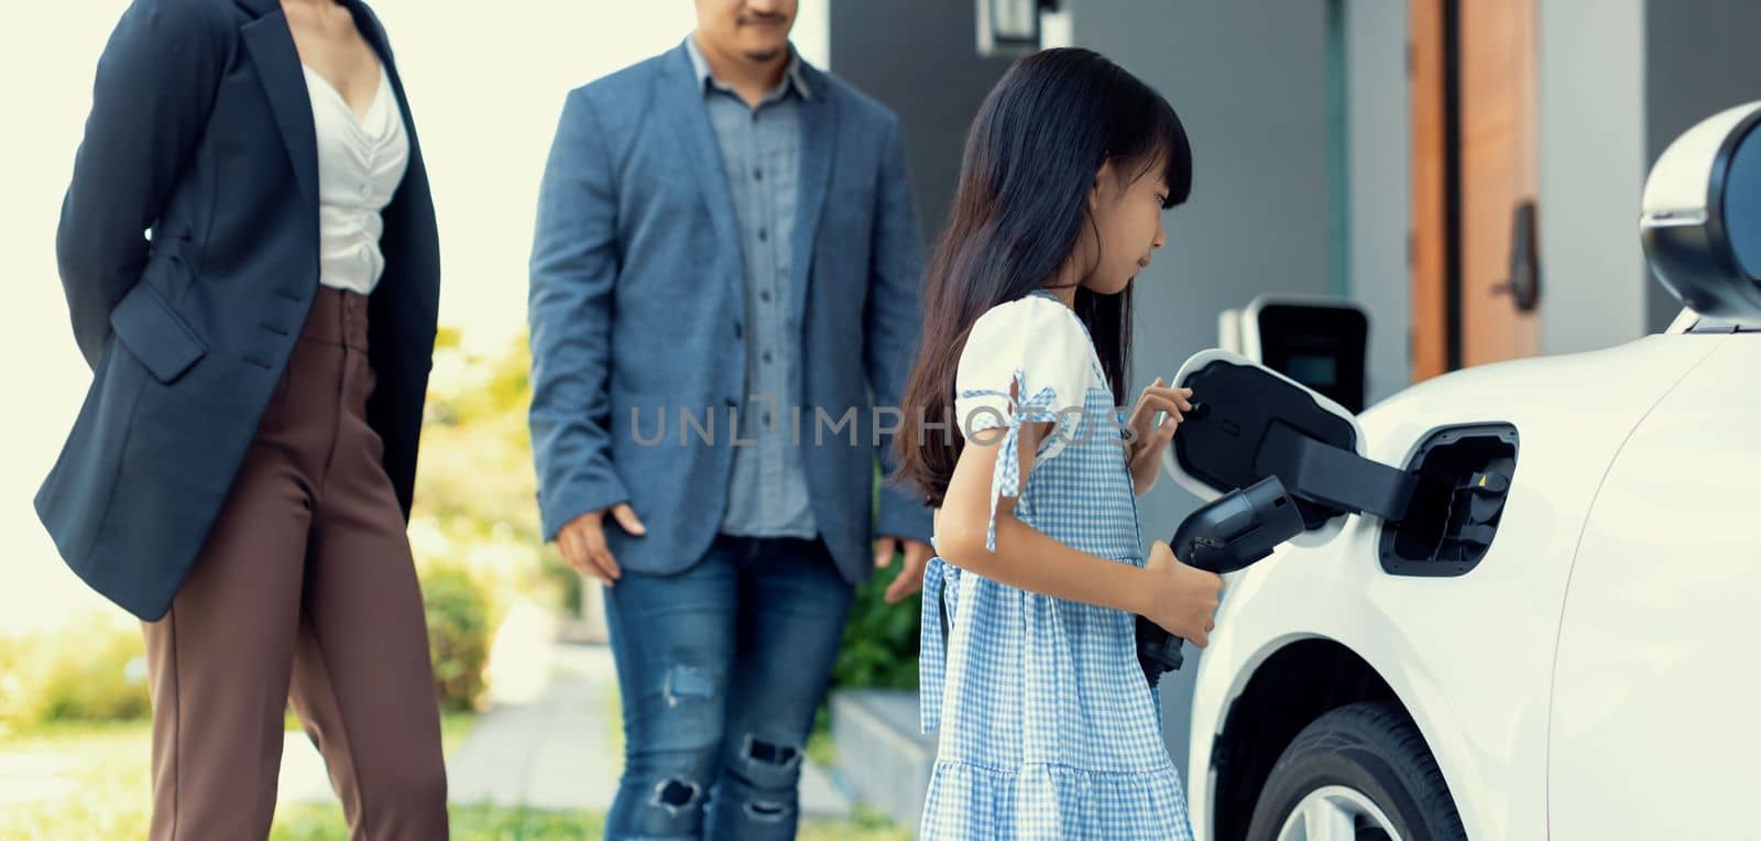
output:
<svg viewBox="0 0 1761 841"><path fill-rule="evenodd" d="M1201 839L1761 837L1757 125L1717 114L1652 169L1664 334L1358 417L1187 362L1212 410L1169 472L1278 475L1308 524L1229 577L1201 658Z"/></svg>

